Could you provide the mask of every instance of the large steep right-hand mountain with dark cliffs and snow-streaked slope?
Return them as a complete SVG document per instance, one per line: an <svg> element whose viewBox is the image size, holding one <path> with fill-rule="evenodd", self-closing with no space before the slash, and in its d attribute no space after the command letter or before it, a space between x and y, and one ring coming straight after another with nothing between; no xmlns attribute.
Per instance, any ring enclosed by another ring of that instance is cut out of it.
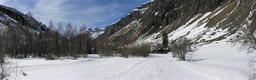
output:
<svg viewBox="0 0 256 80"><path fill-rule="evenodd" d="M132 10L101 35L113 45L159 43L161 33L169 40L187 37L193 42L229 41L238 25L255 16L255 1L155 0Z"/></svg>

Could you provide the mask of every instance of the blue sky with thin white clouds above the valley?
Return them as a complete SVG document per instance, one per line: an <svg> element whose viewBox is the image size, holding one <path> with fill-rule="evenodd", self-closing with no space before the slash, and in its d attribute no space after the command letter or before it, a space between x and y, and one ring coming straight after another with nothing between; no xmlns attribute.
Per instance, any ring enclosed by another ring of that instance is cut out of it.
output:
<svg viewBox="0 0 256 80"><path fill-rule="evenodd" d="M105 27L150 0L0 0L0 4L23 13L31 11L45 25L52 20L73 26Z"/></svg>

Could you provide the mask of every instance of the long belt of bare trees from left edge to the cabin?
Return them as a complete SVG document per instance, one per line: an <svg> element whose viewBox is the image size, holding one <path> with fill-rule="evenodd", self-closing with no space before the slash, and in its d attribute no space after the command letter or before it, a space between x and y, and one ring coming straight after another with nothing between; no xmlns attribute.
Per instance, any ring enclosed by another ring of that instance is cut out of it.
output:
<svg viewBox="0 0 256 80"><path fill-rule="evenodd" d="M32 15L31 15L32 16ZM151 46L140 45L136 47L118 48L106 39L98 37L92 39L83 24L79 30L71 23L65 26L61 22L55 27L50 21L48 31L35 31L23 25L7 25L0 36L0 53L13 58L24 57L46 57L47 60L54 60L58 57L87 57L87 54L99 54L99 56L148 56ZM126 50L127 49L127 50ZM139 50L138 50L139 49ZM136 51L136 52L133 52ZM138 51L138 52L137 52Z"/></svg>

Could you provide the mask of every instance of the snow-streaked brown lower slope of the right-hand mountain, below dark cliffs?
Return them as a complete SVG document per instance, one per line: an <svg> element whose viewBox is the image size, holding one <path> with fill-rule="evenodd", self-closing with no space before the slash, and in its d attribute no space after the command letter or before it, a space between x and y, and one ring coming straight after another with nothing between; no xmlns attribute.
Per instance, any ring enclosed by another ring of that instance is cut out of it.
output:
<svg viewBox="0 0 256 80"><path fill-rule="evenodd" d="M252 8L254 4L251 4ZM219 8L215 9L212 12L207 13L200 13L195 16L193 16L190 20L188 20L184 25L179 26L177 30L174 30L170 32L169 40L175 40L180 37L186 37L188 39L191 39L192 41L196 42L225 42L228 41L237 28L234 28L233 26L236 26L237 24L234 24L234 20L230 21L227 19L232 19L231 14L235 14L235 12L239 12L238 7L242 6L240 4L240 1L238 2L232 2L232 3L226 3L226 5L222 5ZM244 6L242 6L244 7ZM228 10L233 9L232 11L228 12ZM223 16L224 13L227 13ZM250 13L250 12L248 12ZM242 15L240 15L242 16ZM211 24L212 19L219 18L219 22L215 25L209 27L207 24ZM240 17L241 18L241 17ZM238 19L238 18L237 18ZM179 24L179 20L177 21ZM147 36L146 38L140 37L139 40L134 42L134 44L138 43L160 43L161 38L161 32L170 30L170 27L173 25L169 25L165 27L162 31L158 33L154 33L152 35ZM219 41L221 40L221 41Z"/></svg>

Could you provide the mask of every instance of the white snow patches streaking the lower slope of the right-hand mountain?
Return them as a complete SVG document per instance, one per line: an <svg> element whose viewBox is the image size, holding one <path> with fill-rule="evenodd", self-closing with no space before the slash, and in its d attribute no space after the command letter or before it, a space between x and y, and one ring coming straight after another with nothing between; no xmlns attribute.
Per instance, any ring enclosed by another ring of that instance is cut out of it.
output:
<svg viewBox="0 0 256 80"><path fill-rule="evenodd" d="M231 11L230 13L234 12L240 2L237 2L237 6L235 6L234 10ZM180 37L186 37L191 40L197 40L198 42L200 41L207 41L207 40L212 40L215 38L219 38L225 34L228 33L228 29L226 28L223 30L223 28L215 28L214 27L205 27L206 24L208 23L208 20L217 16L220 12L224 11L227 8L226 6L223 6L223 8L218 8L214 10L213 12L207 12L207 13L201 13L197 14L196 16L193 16L190 20L186 22L186 24L180 26L177 30L171 32L168 34L169 40L174 40ZM228 17L229 14L226 15ZM225 18L226 19L226 18ZM216 24L216 26L219 26L219 24L224 21L225 19L221 20L219 23ZM248 19L248 18L247 18ZM178 24L181 20L177 20ZM248 21L248 20L247 20ZM250 22L250 21L248 21ZM231 24L227 24L231 25ZM168 30L168 27L172 25L167 26L165 29ZM165 30L163 29L163 30ZM203 34L205 33L205 34ZM215 33L215 34L212 34ZM152 35L148 35L146 38L139 38L136 42L133 44L139 44L139 43L160 43L161 42L161 31L158 33L153 33ZM227 39L223 39L221 41L214 41L214 42L224 42L227 41Z"/></svg>

